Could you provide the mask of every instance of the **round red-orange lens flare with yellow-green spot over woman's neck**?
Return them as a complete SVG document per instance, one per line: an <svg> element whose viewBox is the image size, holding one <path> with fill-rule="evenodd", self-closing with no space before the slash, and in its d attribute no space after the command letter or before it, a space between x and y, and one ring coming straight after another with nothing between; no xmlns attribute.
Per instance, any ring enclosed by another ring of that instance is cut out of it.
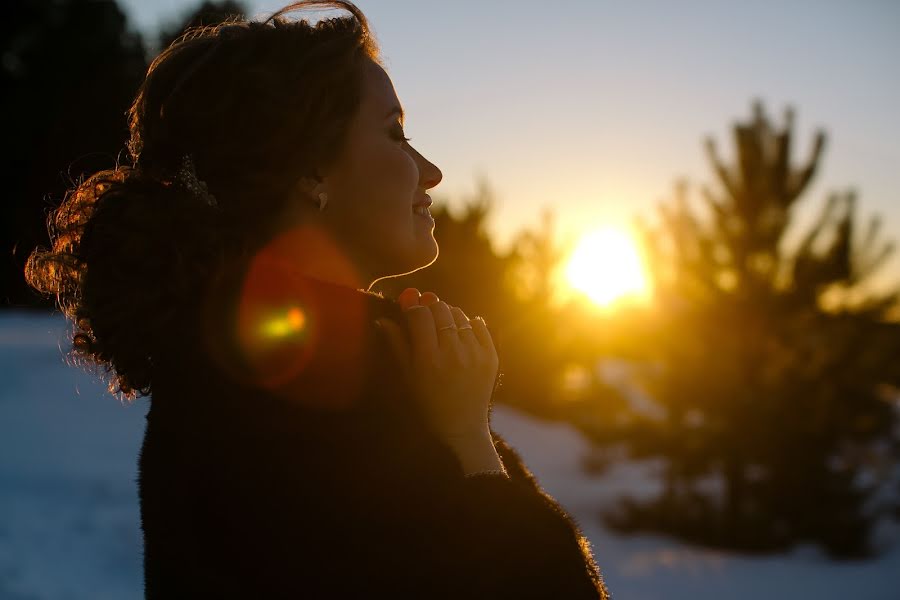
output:
<svg viewBox="0 0 900 600"><path fill-rule="evenodd" d="M335 241L311 226L291 228L262 247L243 273L233 329L250 383L317 407L359 397L370 320L364 295L313 278L304 261L335 281L355 280Z"/></svg>

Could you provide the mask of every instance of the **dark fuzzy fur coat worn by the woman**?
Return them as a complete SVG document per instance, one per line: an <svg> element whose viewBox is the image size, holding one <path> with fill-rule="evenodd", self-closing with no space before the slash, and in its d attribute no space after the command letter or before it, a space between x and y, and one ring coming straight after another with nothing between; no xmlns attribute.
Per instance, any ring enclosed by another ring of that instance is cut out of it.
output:
<svg viewBox="0 0 900 600"><path fill-rule="evenodd" d="M139 458L147 598L608 598L577 524L492 432L464 477L373 321L309 280L291 400L190 356L159 365ZM311 350L310 350L311 348Z"/></svg>

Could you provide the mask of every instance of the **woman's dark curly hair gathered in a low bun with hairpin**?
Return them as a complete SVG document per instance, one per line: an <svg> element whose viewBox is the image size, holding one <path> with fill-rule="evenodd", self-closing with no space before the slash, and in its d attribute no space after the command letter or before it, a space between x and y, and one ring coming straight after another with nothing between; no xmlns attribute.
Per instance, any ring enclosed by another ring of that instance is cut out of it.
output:
<svg viewBox="0 0 900 600"><path fill-rule="evenodd" d="M283 16L307 7L351 14ZM131 164L76 182L48 217L51 248L25 266L74 324L74 357L104 369L111 393L151 393L154 366L190 343L216 282L277 231L292 186L338 157L365 60L381 64L345 0L192 28L153 60L128 111ZM218 208L173 185L185 154Z"/></svg>

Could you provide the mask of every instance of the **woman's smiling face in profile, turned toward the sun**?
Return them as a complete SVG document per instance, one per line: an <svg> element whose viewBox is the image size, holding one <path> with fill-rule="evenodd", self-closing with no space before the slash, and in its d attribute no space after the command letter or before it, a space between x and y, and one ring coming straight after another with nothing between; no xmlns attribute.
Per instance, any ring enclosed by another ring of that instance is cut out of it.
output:
<svg viewBox="0 0 900 600"><path fill-rule="evenodd" d="M375 62L364 66L362 99L344 150L324 175L323 221L373 278L431 264L438 254L434 221L413 204L441 181L441 171L403 139L400 101ZM330 212L329 212L330 211Z"/></svg>

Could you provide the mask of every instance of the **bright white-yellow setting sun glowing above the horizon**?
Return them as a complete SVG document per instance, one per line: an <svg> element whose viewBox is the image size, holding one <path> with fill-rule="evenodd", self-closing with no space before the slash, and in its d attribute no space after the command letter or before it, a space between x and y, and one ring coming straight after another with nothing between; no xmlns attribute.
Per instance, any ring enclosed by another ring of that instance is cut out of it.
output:
<svg viewBox="0 0 900 600"><path fill-rule="evenodd" d="M647 278L633 238L618 229L584 235L566 266L566 279L598 306L647 294Z"/></svg>

